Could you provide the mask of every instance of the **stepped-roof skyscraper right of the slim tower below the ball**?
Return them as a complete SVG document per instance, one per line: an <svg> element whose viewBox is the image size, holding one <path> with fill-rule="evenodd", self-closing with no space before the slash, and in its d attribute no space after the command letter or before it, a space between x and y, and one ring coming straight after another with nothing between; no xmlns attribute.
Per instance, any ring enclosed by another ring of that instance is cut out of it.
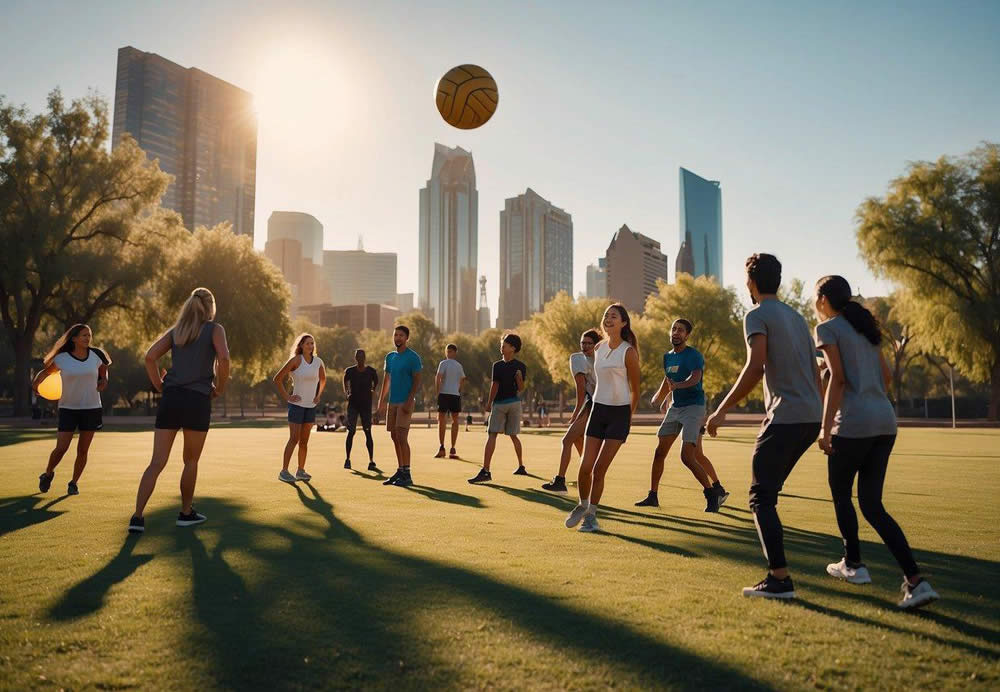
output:
<svg viewBox="0 0 1000 692"><path fill-rule="evenodd" d="M500 324L516 327L559 291L573 295L573 217L529 187L500 212Z"/></svg>

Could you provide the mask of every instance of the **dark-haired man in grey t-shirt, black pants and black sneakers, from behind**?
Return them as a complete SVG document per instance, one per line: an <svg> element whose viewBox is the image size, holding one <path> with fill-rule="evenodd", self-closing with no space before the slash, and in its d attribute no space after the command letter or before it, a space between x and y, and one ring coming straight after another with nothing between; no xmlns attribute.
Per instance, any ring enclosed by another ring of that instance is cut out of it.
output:
<svg viewBox="0 0 1000 692"><path fill-rule="evenodd" d="M755 307L743 319L747 360L739 379L708 419L712 437L726 412L764 378L767 415L757 434L750 484L753 510L768 573L744 596L795 598L785 560L784 532L778 518L778 493L788 475L819 435L823 405L819 398L816 348L805 319L778 300L781 263L774 255L755 254L746 261L747 289Z"/></svg>

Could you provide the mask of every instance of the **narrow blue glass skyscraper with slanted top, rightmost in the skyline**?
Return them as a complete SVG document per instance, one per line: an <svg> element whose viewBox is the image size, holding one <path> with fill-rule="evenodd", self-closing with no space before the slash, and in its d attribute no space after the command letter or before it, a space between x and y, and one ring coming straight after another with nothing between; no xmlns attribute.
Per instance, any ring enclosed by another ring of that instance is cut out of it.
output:
<svg viewBox="0 0 1000 692"><path fill-rule="evenodd" d="M680 173L681 243L693 259L692 276L712 276L722 285L722 190L686 168Z"/></svg>

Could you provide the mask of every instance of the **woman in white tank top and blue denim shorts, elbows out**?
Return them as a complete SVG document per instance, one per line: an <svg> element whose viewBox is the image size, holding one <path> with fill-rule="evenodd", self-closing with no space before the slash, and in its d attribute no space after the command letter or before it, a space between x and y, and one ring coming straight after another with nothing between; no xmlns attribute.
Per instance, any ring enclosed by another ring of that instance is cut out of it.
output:
<svg viewBox="0 0 1000 692"><path fill-rule="evenodd" d="M292 393L285 390L285 380L291 376ZM309 434L316 422L316 404L326 387L326 367L316 353L316 340L311 334L300 334L295 339L291 357L274 376L274 386L281 398L288 402L288 442L281 460L278 480L285 483L308 481L306 454L309 451ZM293 476L288 471L292 452L299 448L299 467Z"/></svg>

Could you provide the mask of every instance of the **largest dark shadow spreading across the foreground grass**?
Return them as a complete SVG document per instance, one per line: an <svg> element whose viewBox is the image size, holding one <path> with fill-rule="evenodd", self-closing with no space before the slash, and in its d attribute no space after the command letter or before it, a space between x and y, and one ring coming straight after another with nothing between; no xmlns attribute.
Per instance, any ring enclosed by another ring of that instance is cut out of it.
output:
<svg viewBox="0 0 1000 692"><path fill-rule="evenodd" d="M579 679L584 683L769 689L624 622L371 545L339 521L315 489L298 492L305 507L327 522L322 538L258 523L249 518L249 508L212 498L199 502L210 523L176 533L194 580L195 624L183 634L183 655L207 657L215 686L497 684L500 673L489 674L476 663L488 646L489 633L481 630L492 625L523 631L553 653L592 663L604 676ZM168 518L163 513L147 523L167 525ZM408 530L415 540L426 540L419 528ZM516 677L508 684L518 684Z"/></svg>

